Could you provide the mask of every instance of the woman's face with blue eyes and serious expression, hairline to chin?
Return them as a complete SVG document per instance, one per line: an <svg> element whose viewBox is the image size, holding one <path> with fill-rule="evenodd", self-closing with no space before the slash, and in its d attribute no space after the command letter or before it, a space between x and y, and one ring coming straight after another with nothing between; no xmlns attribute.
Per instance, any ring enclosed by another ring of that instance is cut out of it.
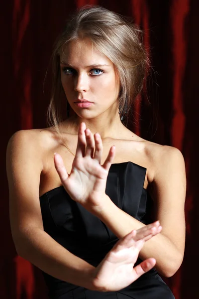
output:
<svg viewBox="0 0 199 299"><path fill-rule="evenodd" d="M92 119L103 113L114 117L118 113L119 79L114 65L89 39L66 45L60 67L67 100L79 117ZM75 103L83 99L93 104Z"/></svg>

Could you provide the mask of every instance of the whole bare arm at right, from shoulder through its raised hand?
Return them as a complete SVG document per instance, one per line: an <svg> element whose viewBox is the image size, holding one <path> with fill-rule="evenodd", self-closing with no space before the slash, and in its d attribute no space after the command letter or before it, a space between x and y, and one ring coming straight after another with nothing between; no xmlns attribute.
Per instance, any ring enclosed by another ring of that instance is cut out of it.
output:
<svg viewBox="0 0 199 299"><path fill-rule="evenodd" d="M95 149L95 150L94 150ZM120 210L105 194L105 185L115 148L111 147L101 165L102 141L100 135L86 129L83 122L79 128L76 156L71 173L68 174L60 155L54 155L56 170L71 198L96 215L118 237L122 238L132 229L144 229L145 225ZM153 177L153 199L156 219L162 232L149 240L140 251L141 259L154 257L156 268L170 277L179 269L185 247L185 162L180 150L172 147L156 148L153 156L156 171ZM76 187L78 186L78 188ZM133 198L132 198L133 200Z"/></svg>

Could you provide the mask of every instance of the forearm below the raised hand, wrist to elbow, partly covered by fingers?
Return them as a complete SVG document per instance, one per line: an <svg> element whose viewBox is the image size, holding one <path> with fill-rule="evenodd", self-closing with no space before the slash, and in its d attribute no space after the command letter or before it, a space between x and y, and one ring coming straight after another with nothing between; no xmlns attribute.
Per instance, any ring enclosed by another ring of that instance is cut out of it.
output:
<svg viewBox="0 0 199 299"><path fill-rule="evenodd" d="M119 209L108 196L103 209L94 213L119 239L133 229L137 230L145 226L142 222ZM142 260L155 258L157 271L167 277L172 276L177 271L183 258L175 244L164 235L164 228L161 233L144 244L139 257Z"/></svg>

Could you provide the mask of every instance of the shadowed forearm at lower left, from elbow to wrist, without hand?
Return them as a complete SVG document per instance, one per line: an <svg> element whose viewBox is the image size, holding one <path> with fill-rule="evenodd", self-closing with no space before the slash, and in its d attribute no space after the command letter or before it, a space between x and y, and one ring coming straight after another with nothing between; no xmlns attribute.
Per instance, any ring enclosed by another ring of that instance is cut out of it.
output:
<svg viewBox="0 0 199 299"><path fill-rule="evenodd" d="M16 242L17 253L45 273L68 283L95 290L92 273L86 261L66 250L46 232L34 229Z"/></svg>

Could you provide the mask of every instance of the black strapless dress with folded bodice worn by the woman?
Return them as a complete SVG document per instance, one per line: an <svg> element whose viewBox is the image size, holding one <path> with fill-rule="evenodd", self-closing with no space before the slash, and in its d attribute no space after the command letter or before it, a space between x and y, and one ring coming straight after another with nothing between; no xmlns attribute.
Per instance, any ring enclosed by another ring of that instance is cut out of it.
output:
<svg viewBox="0 0 199 299"><path fill-rule="evenodd" d="M146 168L133 162L112 164L105 193L124 212L151 223L153 201L144 186ZM63 186L40 196L44 230L74 255L98 266L118 238L96 216L70 198ZM119 221L119 219L118 219ZM141 260L138 258L137 263ZM175 299L155 269L117 292L96 292L43 273L51 299Z"/></svg>

